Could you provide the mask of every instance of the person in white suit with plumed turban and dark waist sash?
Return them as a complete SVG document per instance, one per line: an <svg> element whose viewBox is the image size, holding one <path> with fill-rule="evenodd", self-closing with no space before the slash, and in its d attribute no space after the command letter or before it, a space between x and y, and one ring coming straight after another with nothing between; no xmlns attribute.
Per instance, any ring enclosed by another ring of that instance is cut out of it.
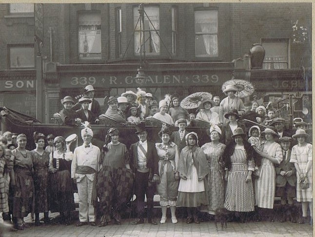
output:
<svg viewBox="0 0 315 237"><path fill-rule="evenodd" d="M77 226L90 223L95 226L95 207L92 205L92 189L95 174L99 170L100 150L91 143L93 131L90 128L81 130L83 145L73 152L71 178L77 183L79 196L79 222Z"/></svg>

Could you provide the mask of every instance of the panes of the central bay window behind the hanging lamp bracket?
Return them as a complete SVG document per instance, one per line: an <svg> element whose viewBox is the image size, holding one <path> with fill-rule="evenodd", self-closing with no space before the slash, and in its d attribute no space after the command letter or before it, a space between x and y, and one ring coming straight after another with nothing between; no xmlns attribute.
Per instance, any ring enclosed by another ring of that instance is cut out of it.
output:
<svg viewBox="0 0 315 237"><path fill-rule="evenodd" d="M138 21L139 12L138 7L134 8L134 27L137 25L134 38L135 54L140 54L142 44L145 46L145 52L147 55L158 55L160 52L159 8L157 6L145 6L144 11L148 15L149 19L144 14L144 22L141 22L141 28L144 32L141 33L142 40L140 40L140 20Z"/></svg>

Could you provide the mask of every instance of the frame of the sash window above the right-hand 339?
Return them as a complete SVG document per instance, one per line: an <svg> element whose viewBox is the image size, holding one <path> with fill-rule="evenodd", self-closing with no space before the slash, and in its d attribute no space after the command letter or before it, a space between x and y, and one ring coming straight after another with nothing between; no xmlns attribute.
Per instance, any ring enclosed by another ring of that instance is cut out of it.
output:
<svg viewBox="0 0 315 237"><path fill-rule="evenodd" d="M217 14L217 32L216 33L203 33L203 32L196 32L195 29L195 20L196 20L196 13L197 12L216 12ZM219 15L218 15L219 11L217 8L195 8L194 9L194 50L195 50L195 58L197 59L202 59L202 58L210 58L210 59L218 59L219 58ZM217 55L211 56L211 55L207 55L207 54L202 54L202 55L197 55L196 53L196 36L202 36L202 35L215 35L217 36Z"/></svg>

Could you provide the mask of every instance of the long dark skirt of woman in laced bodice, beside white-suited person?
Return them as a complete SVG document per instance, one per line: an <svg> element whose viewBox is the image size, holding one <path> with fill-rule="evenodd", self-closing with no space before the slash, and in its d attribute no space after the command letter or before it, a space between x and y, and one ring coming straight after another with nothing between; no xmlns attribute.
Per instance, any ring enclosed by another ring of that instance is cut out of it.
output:
<svg viewBox="0 0 315 237"><path fill-rule="evenodd" d="M70 214L74 210L72 179L68 170L51 173L48 176L49 210Z"/></svg>

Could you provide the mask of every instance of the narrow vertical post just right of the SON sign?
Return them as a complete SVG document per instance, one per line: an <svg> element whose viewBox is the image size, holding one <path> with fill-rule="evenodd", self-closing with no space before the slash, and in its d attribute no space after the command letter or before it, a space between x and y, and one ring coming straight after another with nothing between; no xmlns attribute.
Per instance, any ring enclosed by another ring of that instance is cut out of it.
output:
<svg viewBox="0 0 315 237"><path fill-rule="evenodd" d="M36 119L43 121L42 57L36 56Z"/></svg>

